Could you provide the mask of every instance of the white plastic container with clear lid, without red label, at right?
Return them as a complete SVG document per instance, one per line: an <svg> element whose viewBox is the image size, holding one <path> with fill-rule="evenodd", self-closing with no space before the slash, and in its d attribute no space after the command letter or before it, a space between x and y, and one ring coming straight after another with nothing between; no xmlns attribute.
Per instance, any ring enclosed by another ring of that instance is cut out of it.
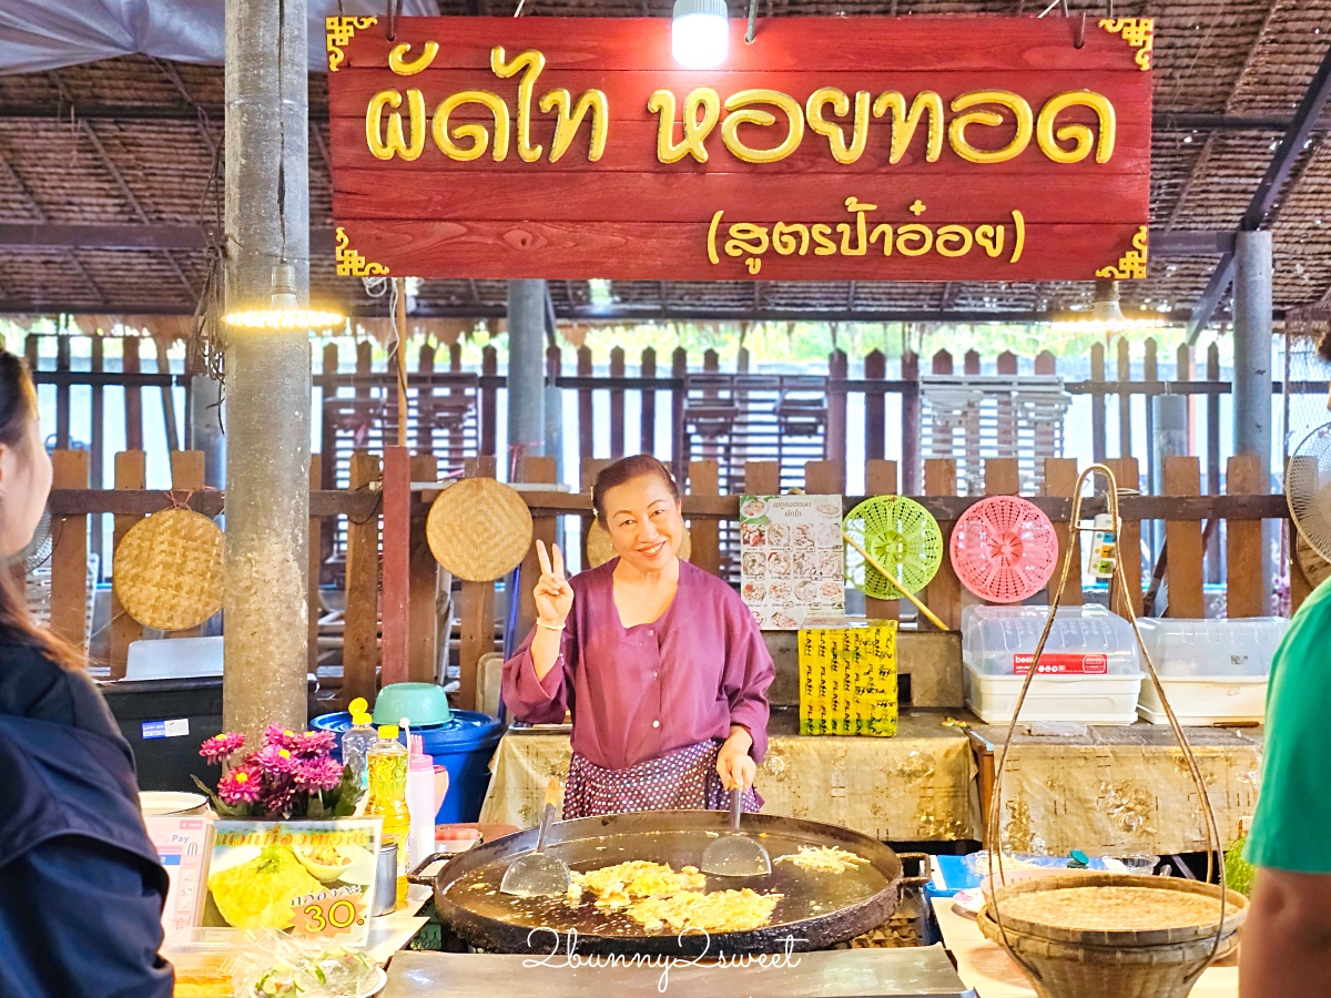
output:
<svg viewBox="0 0 1331 998"><path fill-rule="evenodd" d="M1271 659L1288 625L1284 617L1137 621L1165 696L1187 727L1260 724ZM1137 712L1151 724L1169 724L1149 679Z"/></svg>

